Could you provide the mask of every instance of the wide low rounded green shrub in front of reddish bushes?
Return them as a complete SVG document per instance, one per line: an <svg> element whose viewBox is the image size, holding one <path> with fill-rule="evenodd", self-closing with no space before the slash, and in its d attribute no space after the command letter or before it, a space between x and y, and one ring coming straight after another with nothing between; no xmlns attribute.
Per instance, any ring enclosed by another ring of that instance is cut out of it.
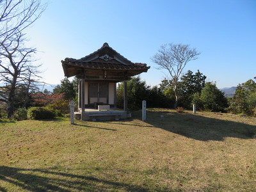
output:
<svg viewBox="0 0 256 192"><path fill-rule="evenodd" d="M28 118L33 120L54 118L55 113L47 108L33 107L28 109Z"/></svg>

